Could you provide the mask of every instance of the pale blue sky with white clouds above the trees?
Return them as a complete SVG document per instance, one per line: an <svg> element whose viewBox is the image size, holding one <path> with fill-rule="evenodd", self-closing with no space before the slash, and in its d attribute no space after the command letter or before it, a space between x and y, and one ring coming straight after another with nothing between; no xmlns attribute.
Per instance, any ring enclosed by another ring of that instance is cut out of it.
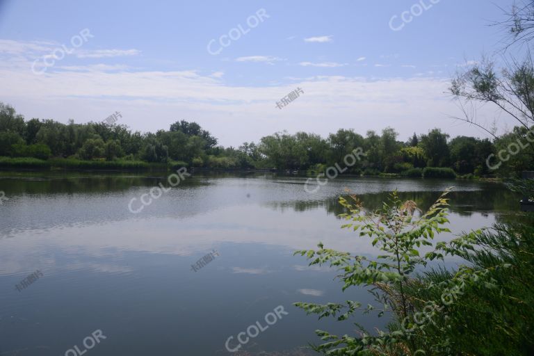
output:
<svg viewBox="0 0 534 356"><path fill-rule="evenodd" d="M199 123L225 146L277 131L393 127L399 140L454 120L451 77L503 48L512 0L0 0L0 102L26 119L136 131ZM299 90L283 105L282 98ZM478 122L512 122L491 106Z"/></svg>

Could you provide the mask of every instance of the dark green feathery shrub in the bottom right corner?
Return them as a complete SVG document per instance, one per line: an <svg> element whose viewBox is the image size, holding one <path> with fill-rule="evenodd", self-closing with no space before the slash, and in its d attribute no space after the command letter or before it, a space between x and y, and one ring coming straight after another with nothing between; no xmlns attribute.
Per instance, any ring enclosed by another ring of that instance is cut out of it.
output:
<svg viewBox="0 0 534 356"><path fill-rule="evenodd" d="M464 284L446 315L436 314L414 342L426 348L448 340L448 355L533 355L533 225L495 225L469 237L477 248L462 257L471 270L484 273L476 283ZM432 289L405 291L410 300L439 300L454 277L451 271L432 270L421 280Z"/></svg>

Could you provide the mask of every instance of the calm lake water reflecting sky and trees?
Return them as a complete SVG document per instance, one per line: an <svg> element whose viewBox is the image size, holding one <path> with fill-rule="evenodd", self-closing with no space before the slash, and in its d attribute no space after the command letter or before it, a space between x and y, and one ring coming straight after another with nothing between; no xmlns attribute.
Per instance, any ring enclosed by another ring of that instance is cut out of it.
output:
<svg viewBox="0 0 534 356"><path fill-rule="evenodd" d="M455 186L453 234L518 211L516 195L487 182L338 177L307 193L306 177L204 173L131 213L129 202L136 198L138 209L150 188L168 187L167 177L0 172L8 198L0 205L0 355L231 355L227 340L235 349L238 334L257 321L259 332L250 329L257 336L234 355L312 355L302 346L318 341L314 330L344 334L355 326L318 321L293 302L372 300L364 289L342 293L335 270L293 256L319 241L376 253L368 238L340 228L337 197L346 188L368 207L398 189L426 209ZM37 270L31 284L15 288ZM387 318L353 321L372 329Z"/></svg>

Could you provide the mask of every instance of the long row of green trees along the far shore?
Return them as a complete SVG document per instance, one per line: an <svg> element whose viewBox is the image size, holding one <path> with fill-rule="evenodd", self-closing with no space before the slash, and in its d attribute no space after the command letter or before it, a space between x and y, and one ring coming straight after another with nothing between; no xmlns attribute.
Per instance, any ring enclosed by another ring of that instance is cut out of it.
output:
<svg viewBox="0 0 534 356"><path fill-rule="evenodd" d="M258 168L323 171L362 147L366 156L353 165L353 174L383 173L421 176L423 168L446 168L459 175L494 174L486 161L490 154L524 140L526 129L516 128L496 140L458 136L450 139L440 129L416 135L402 142L394 129L368 131L365 136L353 129L340 129L322 138L314 133L274 133L259 143L243 143L238 148L217 145L217 139L195 122L181 120L168 131L141 133L122 124L89 122L62 124L54 120L24 120L12 106L0 103L0 165L6 162L30 163L61 160L79 163L80 168L112 165L143 168L147 163L187 165L197 168ZM526 142L526 141L525 141ZM534 147L524 149L499 166L510 174L533 167ZM6 158L10 157L10 158ZM13 159L14 158L14 159ZM40 161L42 160L42 161ZM92 163L88 163L92 162ZM427 169L427 172L435 170Z"/></svg>

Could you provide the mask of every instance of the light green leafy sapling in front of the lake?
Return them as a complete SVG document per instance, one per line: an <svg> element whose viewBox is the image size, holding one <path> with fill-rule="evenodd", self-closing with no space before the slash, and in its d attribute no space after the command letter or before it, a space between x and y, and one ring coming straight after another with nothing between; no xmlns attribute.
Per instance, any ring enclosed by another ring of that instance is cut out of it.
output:
<svg viewBox="0 0 534 356"><path fill-rule="evenodd" d="M348 211L340 215L348 221L342 227L359 232L360 237L370 238L380 254L375 258L352 255L327 249L323 243L318 244L319 250L300 250L295 254L306 256L310 266L330 264L338 267L341 270L338 278L344 283L343 291L351 286L371 287L369 291L377 305L362 307L360 302L353 300L326 305L298 302L295 305L307 314L318 314L319 318L333 316L338 321L348 319L357 311L364 314L376 312L378 317L391 312L396 323L391 324L387 332L377 330L373 334L355 324L359 329L357 337L339 337L316 330L316 334L325 342L312 346L314 350L326 355L448 354L449 340L438 340L423 346L419 341L424 337L426 328L447 327L439 323L446 315L450 302L458 298L466 286L480 284L487 274L462 266L458 273L451 275L450 280L435 284L425 284L420 277L414 276L416 268L424 270L429 261L444 259L447 254L462 257L469 250L474 250L471 245L471 241L474 241L472 234L480 232L455 238L450 243L433 243L436 234L450 232L444 227L449 222L446 195L450 191L451 188L448 188L426 213L420 211L411 200L403 202L396 191L374 212L365 211L354 195L350 196L352 202L339 198ZM423 248L430 252L423 254ZM407 293L414 289L441 292L428 300L416 300L412 297L413 293ZM440 321L436 323L434 318Z"/></svg>

